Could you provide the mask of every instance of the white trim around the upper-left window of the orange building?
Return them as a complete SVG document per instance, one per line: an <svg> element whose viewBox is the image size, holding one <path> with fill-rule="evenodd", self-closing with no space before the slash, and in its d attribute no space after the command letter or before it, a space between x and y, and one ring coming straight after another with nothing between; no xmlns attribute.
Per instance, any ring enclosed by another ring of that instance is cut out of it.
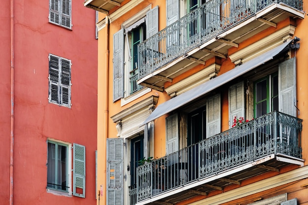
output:
<svg viewBox="0 0 308 205"><path fill-rule="evenodd" d="M125 30L125 28L128 28L129 26L133 25L134 23L136 23L137 21L139 21L140 19L146 17L147 12L150 11L152 9L152 4L148 5L147 7L145 7L144 9L142 9L140 12L138 12L136 15L134 15L133 17L131 17L130 19L128 19L127 21L125 21L122 24L122 28ZM124 79L123 79L123 83L124 83L124 98L121 98L121 106L126 105L127 103L141 97L142 95L148 93L151 91L151 88L147 88L147 89L141 89L136 91L133 94L130 94L130 83L129 83L129 68L130 68L130 63L131 63L131 59L129 59L129 54L128 54L128 44L127 44L127 40L126 40L126 36L124 36L123 38L123 43L124 43Z"/></svg>

